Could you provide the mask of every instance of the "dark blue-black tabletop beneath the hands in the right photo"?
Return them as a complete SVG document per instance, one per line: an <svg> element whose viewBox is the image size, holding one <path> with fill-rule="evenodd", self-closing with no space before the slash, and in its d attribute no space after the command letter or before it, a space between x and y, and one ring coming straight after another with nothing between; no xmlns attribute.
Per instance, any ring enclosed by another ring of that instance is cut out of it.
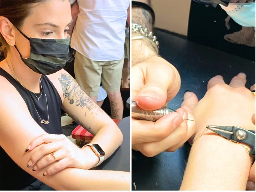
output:
<svg viewBox="0 0 256 192"><path fill-rule="evenodd" d="M247 74L246 87L255 83L255 62L208 48L184 38L155 30L160 55L174 65L181 77L179 93L168 107L178 109L183 102L184 91L190 90L201 99L207 90L207 82L215 75L222 75L228 83L239 72ZM175 152L162 152L147 158L132 151L132 183L137 190L179 190L190 146L185 143ZM132 185L132 190L135 190Z"/></svg>

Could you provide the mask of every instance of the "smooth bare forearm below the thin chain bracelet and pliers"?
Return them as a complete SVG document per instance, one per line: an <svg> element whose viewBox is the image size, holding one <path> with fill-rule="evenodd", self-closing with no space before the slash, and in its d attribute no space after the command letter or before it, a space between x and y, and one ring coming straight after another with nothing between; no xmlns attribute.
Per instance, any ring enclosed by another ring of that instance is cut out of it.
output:
<svg viewBox="0 0 256 192"><path fill-rule="evenodd" d="M180 190L245 190L251 166L245 148L209 132L192 146Z"/></svg>

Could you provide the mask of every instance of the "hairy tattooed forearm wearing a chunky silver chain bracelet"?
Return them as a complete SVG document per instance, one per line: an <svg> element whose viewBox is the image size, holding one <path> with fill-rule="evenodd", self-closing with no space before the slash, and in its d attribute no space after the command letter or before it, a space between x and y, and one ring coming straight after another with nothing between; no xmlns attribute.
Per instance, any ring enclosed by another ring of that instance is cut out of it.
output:
<svg viewBox="0 0 256 192"><path fill-rule="evenodd" d="M148 5L150 0L140 0L143 3ZM143 28L147 28L149 31L153 30L152 16L149 11L141 7L133 6L131 9L132 12L132 23L141 25ZM132 32L132 37L138 36L137 33ZM132 66L138 64L139 62L145 61L146 59L158 55L154 45L150 40L140 39L132 40L131 49L132 49Z"/></svg>

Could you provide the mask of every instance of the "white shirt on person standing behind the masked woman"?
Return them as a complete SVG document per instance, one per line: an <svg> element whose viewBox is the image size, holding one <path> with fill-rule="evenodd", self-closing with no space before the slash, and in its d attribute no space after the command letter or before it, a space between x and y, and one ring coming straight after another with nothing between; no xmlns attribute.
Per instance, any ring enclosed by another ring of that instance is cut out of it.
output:
<svg viewBox="0 0 256 192"><path fill-rule="evenodd" d="M124 54L130 0L77 0L77 3L80 13L70 46L94 61L120 60Z"/></svg>

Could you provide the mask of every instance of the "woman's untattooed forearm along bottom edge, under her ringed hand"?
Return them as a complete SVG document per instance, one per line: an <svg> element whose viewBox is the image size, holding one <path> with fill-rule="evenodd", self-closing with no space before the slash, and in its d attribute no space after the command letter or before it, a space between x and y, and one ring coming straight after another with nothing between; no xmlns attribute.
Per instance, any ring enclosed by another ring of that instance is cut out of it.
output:
<svg viewBox="0 0 256 192"><path fill-rule="evenodd" d="M47 179L56 190L129 190L130 173L122 171L88 171L66 168ZM63 182L65 181L65 182Z"/></svg>

